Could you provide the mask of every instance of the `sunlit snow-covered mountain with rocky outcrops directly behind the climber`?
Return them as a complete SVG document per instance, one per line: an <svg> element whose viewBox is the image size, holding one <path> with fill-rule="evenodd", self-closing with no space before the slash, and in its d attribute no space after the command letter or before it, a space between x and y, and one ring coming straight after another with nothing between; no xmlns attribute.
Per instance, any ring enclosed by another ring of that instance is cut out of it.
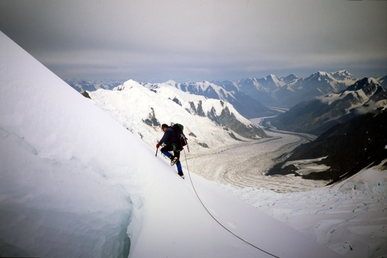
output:
<svg viewBox="0 0 387 258"><path fill-rule="evenodd" d="M203 145L211 148L233 144L231 132L247 140L233 129L227 131L223 125L208 118L208 114L212 114L213 120L221 117L225 109L236 117L240 126L257 128L229 103L188 94L175 87L161 85L149 90L129 80L113 91L100 89L89 94L93 103L151 147L163 135L161 124L183 124L189 147L193 150L203 148ZM260 136L256 134L255 137Z"/></svg>

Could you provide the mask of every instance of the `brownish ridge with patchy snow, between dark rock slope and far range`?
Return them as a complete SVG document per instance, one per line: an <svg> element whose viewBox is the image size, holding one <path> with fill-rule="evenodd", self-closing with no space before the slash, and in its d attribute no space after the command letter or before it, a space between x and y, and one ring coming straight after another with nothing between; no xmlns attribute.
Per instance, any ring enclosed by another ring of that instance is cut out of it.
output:
<svg viewBox="0 0 387 258"><path fill-rule="evenodd" d="M364 77L338 93L302 102L270 118L281 130L320 135L336 124L387 105L387 92L373 78Z"/></svg>

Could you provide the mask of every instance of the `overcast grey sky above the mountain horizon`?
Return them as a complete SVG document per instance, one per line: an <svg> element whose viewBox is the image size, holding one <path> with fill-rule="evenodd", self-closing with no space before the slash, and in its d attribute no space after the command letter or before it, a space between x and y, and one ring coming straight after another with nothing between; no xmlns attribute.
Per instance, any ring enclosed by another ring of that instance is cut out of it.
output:
<svg viewBox="0 0 387 258"><path fill-rule="evenodd" d="M360 78L387 74L386 13L387 1L0 0L0 30L64 79Z"/></svg>

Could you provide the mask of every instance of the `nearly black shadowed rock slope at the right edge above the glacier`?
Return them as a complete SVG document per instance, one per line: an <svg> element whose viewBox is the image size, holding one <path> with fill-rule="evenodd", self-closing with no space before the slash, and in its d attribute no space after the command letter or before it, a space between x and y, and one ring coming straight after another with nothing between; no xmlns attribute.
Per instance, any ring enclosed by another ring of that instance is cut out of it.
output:
<svg viewBox="0 0 387 258"><path fill-rule="evenodd" d="M361 169L379 165L387 159L387 110L357 116L321 134L315 141L299 149L283 163L270 169L267 175L297 173L293 165L281 167L288 161L309 160L327 156L318 165L329 166L323 172L312 172L305 179L338 182ZM387 162L386 162L387 163ZM387 166L387 164L384 164Z"/></svg>

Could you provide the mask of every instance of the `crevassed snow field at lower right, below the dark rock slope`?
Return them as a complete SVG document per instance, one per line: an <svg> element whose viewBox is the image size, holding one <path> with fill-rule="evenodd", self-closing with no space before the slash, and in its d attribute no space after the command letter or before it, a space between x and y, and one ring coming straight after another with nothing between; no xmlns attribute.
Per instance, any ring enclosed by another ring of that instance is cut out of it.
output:
<svg viewBox="0 0 387 258"><path fill-rule="evenodd" d="M338 185L311 191L218 185L343 257L360 258L387 254L386 181L385 170L375 166Z"/></svg>

